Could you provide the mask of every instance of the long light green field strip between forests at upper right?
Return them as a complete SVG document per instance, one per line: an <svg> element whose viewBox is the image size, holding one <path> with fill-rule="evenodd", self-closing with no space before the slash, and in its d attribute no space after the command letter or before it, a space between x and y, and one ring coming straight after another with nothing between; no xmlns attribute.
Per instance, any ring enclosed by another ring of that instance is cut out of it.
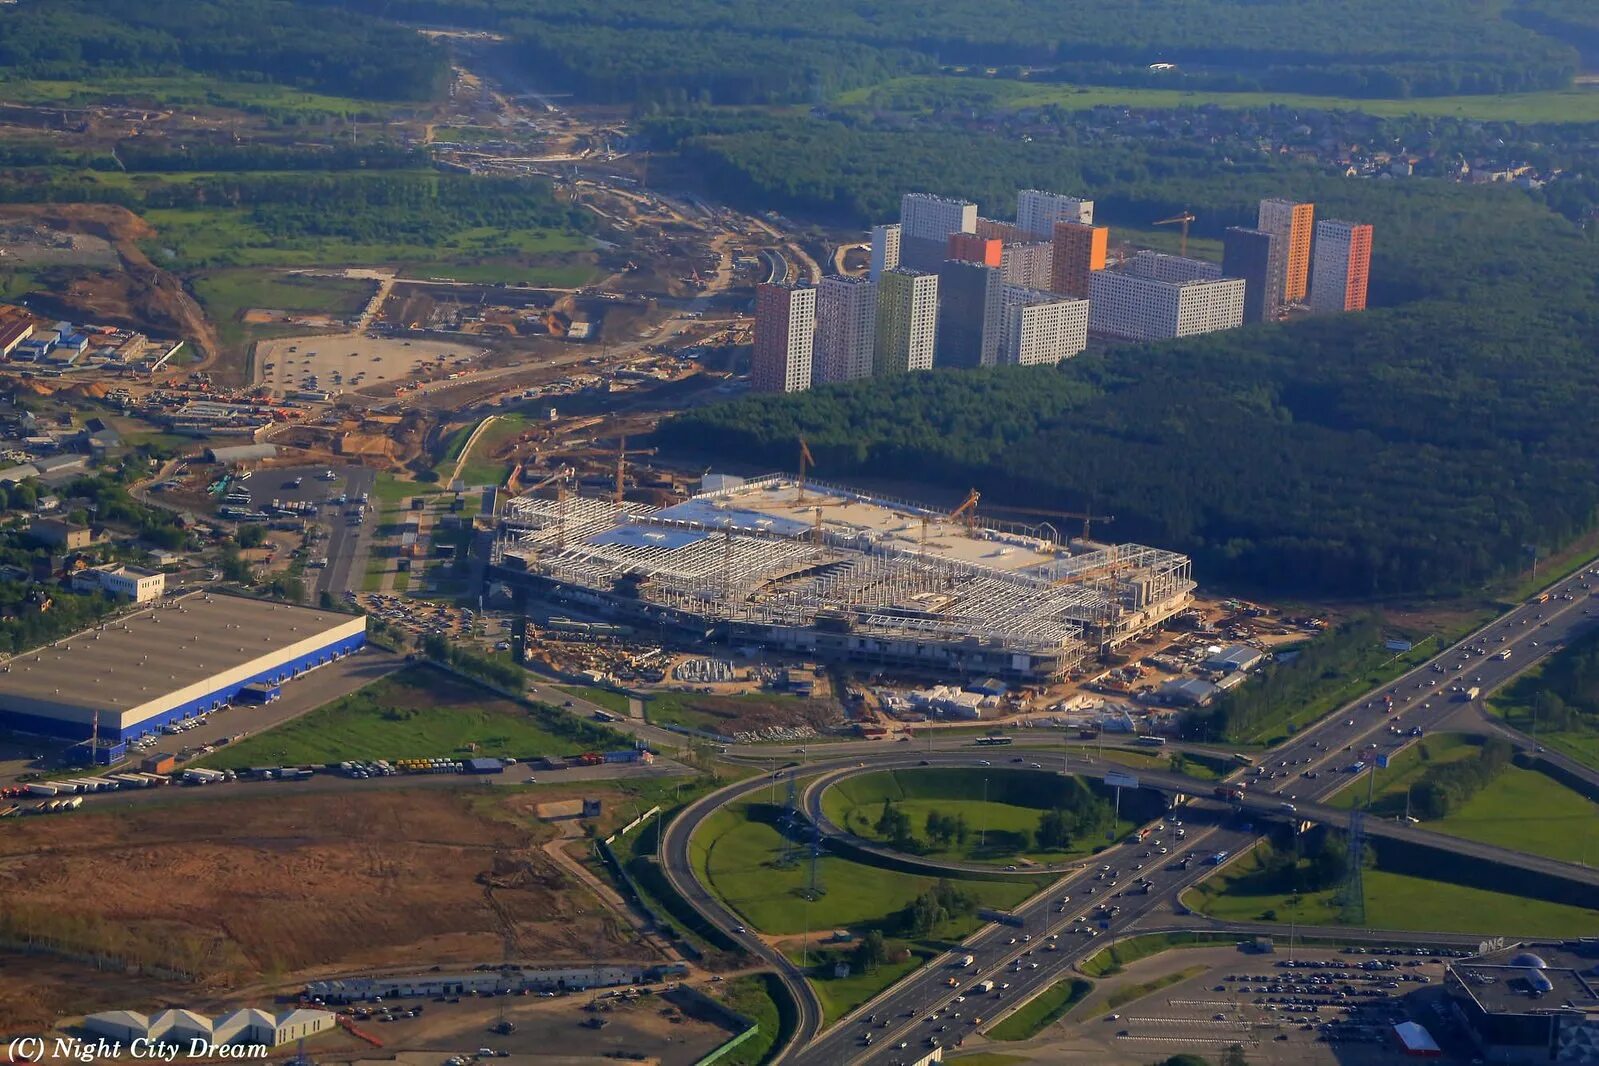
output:
<svg viewBox="0 0 1599 1066"><path fill-rule="evenodd" d="M841 107L873 110L926 110L934 105L961 109L1022 110L1062 107L1303 107L1316 110L1359 110L1399 118L1442 115L1485 121L1599 121L1599 91L1588 88L1501 96L1431 96L1410 99L1358 99L1346 96L1306 96L1297 93L1191 93L1183 89L1142 89L1004 78L894 78L881 85L851 89L835 101Z"/></svg>

